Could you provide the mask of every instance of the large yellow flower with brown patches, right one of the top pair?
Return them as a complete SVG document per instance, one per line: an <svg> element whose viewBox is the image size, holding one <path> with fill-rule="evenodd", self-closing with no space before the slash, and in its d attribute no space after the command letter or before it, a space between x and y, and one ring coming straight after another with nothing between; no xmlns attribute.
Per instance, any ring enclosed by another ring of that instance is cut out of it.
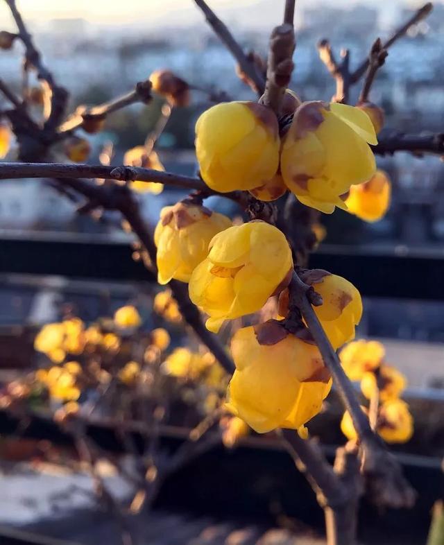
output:
<svg viewBox="0 0 444 545"><path fill-rule="evenodd" d="M282 178L304 205L326 214L335 206L347 209L343 195L376 170L367 143L377 144L375 129L357 107L303 103L282 144Z"/></svg>

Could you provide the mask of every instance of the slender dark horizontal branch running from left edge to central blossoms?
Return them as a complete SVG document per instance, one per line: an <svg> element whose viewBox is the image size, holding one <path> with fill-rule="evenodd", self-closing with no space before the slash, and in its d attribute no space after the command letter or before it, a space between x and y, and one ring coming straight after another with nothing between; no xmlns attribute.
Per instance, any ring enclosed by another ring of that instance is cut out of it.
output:
<svg viewBox="0 0 444 545"><path fill-rule="evenodd" d="M0 163L0 180L17 178L106 178L109 180L142 180L182 187L183 189L210 191L200 178L191 178L171 172L154 171L135 166L106 166L63 163Z"/></svg>

